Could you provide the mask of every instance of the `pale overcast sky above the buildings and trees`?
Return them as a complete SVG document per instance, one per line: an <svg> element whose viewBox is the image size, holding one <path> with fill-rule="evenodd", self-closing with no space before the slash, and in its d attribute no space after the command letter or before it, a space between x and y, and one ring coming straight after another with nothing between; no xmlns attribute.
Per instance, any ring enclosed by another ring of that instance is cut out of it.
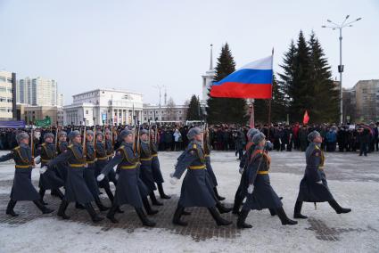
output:
<svg viewBox="0 0 379 253"><path fill-rule="evenodd" d="M90 89L122 88L158 103L202 92L201 75L226 42L237 68L268 56L274 70L300 29L313 29L338 75L338 32L327 19L362 17L343 30L343 86L379 78L379 1L0 0L0 69L58 81L65 103Z"/></svg>

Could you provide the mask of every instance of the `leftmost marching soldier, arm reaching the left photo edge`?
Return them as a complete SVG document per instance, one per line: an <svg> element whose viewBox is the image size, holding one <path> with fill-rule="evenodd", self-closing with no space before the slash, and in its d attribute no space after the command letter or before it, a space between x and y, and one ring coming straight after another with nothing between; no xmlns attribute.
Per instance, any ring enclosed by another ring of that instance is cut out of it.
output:
<svg viewBox="0 0 379 253"><path fill-rule="evenodd" d="M18 216L13 210L17 201L31 200L43 214L54 212L53 209L46 208L40 200L40 196L33 184L31 183L31 170L33 168L33 159L29 147L29 135L25 132L16 135L19 146L14 148L9 154L0 157L0 161L14 159L15 171L11 191L11 200L6 208L6 214Z"/></svg>

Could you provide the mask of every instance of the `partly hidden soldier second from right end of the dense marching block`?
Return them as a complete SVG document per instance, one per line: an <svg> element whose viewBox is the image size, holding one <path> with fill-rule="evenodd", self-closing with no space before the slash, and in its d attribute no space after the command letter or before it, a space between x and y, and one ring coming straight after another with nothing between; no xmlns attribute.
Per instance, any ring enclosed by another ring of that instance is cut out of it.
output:
<svg viewBox="0 0 379 253"><path fill-rule="evenodd" d="M152 200L152 205L154 206L162 206L163 204L159 202L154 194L154 190L157 190L154 184L154 178L152 176L152 151L149 144L149 131L146 129L142 129L140 133L140 142L141 142L141 150L140 150L140 178L144 185L146 185L148 189L148 193L150 196L150 200Z"/></svg>

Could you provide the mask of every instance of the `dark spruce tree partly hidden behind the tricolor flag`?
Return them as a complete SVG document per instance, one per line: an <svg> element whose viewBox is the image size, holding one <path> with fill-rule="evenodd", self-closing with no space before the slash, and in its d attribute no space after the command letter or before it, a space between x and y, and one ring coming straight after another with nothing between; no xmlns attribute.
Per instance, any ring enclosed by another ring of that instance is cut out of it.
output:
<svg viewBox="0 0 379 253"><path fill-rule="evenodd" d="M226 78L227 75L235 71L235 60L229 49L229 45L224 45L216 67L215 82ZM213 98L207 101L208 122L210 124L219 123L239 123L243 124L247 120L246 102L239 98Z"/></svg>

